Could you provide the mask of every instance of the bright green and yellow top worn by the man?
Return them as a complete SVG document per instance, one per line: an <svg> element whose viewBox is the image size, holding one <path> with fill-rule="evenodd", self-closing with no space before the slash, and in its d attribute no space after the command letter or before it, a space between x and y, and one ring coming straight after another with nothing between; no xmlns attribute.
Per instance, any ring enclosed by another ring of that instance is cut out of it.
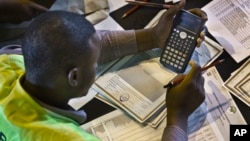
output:
<svg viewBox="0 0 250 141"><path fill-rule="evenodd" d="M21 86L22 55L0 55L0 140L95 141L70 118L39 105Z"/></svg>

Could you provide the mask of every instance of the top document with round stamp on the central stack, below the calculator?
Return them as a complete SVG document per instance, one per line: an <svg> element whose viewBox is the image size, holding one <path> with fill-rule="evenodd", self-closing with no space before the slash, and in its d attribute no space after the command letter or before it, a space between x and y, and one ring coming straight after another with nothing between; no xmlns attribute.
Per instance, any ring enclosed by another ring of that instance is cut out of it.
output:
<svg viewBox="0 0 250 141"><path fill-rule="evenodd" d="M176 76L159 58L99 77L95 84L114 103L144 123L165 105L163 85Z"/></svg>

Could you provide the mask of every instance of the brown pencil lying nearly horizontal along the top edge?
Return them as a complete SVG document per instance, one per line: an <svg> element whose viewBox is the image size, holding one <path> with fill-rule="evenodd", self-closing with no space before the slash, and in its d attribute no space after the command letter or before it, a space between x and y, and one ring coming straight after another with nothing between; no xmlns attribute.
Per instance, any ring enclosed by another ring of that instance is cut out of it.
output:
<svg viewBox="0 0 250 141"><path fill-rule="evenodd" d="M133 0L126 0L126 2L129 4L134 4L134 5L139 5L139 6L149 6L149 7L166 8L166 9L169 9L173 6L171 4L159 4L159 3L133 1Z"/></svg>

